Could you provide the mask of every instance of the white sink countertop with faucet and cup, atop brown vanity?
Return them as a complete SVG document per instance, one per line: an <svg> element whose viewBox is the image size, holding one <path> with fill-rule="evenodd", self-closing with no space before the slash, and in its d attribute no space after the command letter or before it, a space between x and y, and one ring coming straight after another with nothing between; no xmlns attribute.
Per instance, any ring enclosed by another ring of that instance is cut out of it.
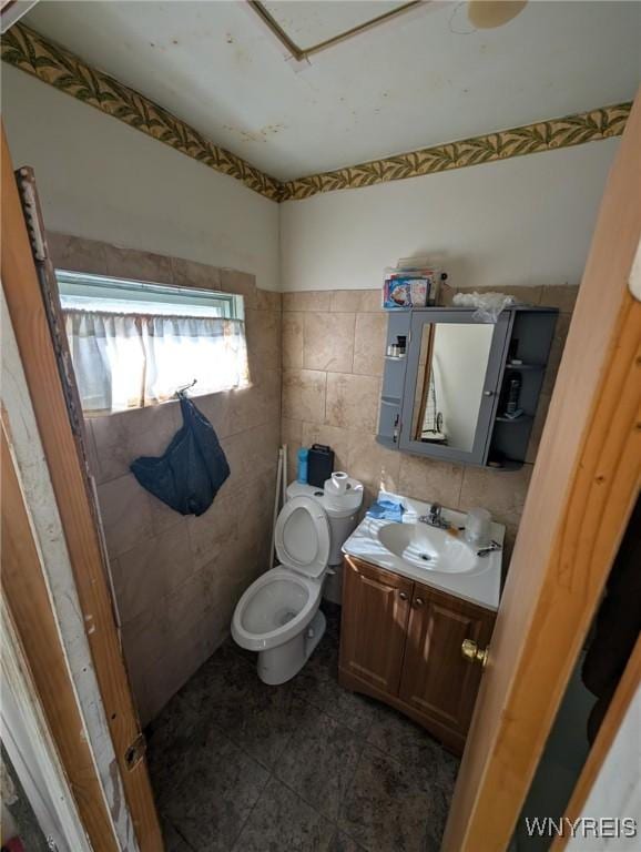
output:
<svg viewBox="0 0 641 852"><path fill-rule="evenodd" d="M394 498L403 504L403 523L365 516L343 545L344 554L481 607L498 609L501 550L478 556L477 548L467 544L462 532L457 536L418 520L429 514L428 503L387 491L380 491L379 498ZM465 526L465 513L444 509L442 517L454 530ZM501 524L491 525L491 538L499 545L505 531Z"/></svg>

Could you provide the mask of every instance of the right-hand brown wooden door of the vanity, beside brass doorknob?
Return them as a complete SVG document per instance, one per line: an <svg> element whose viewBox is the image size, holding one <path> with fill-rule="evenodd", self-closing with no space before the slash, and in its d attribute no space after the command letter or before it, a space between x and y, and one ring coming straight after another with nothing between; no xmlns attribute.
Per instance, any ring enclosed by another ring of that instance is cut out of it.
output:
<svg viewBox="0 0 641 852"><path fill-rule="evenodd" d="M415 584L400 698L462 737L469 728L481 667L461 655L465 639L489 643L496 613Z"/></svg>

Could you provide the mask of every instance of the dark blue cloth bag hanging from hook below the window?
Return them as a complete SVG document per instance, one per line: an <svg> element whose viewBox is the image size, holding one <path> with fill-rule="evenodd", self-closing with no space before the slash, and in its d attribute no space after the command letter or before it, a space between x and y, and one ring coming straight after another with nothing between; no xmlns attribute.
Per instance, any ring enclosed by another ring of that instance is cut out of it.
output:
<svg viewBox="0 0 641 852"><path fill-rule="evenodd" d="M230 475L214 427L180 394L183 426L162 456L141 456L131 471L147 491L181 515L202 515Z"/></svg>

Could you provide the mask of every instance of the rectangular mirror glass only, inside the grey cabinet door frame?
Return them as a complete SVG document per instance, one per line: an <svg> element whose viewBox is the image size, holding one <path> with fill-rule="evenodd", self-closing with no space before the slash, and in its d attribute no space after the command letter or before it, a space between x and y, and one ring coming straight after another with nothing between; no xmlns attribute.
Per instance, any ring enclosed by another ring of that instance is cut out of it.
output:
<svg viewBox="0 0 641 852"><path fill-rule="evenodd" d="M495 327L491 323L425 323L414 440L471 452Z"/></svg>

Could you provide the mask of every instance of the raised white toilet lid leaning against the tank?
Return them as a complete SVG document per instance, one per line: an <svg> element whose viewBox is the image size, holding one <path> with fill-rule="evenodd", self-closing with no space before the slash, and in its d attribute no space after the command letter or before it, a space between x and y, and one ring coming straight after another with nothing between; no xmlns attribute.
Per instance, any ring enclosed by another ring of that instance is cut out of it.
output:
<svg viewBox="0 0 641 852"><path fill-rule="evenodd" d="M320 577L329 559L329 523L312 497L294 497L283 506L274 534L278 561L306 577Z"/></svg>

